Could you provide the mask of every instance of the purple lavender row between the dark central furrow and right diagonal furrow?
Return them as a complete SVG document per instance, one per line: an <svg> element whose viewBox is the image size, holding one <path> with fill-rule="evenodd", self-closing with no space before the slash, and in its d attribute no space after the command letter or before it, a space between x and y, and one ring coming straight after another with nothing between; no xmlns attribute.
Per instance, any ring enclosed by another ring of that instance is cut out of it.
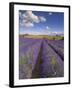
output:
<svg viewBox="0 0 72 90"><path fill-rule="evenodd" d="M64 62L45 40L43 41L42 60L41 77L64 76Z"/></svg>

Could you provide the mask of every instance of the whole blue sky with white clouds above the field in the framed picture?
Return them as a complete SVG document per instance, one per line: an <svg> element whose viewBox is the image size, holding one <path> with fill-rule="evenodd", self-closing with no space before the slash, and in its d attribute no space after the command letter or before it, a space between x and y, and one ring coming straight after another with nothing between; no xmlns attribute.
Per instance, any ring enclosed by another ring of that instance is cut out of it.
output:
<svg viewBox="0 0 72 90"><path fill-rule="evenodd" d="M19 10L19 34L49 35L63 33L63 12Z"/></svg>

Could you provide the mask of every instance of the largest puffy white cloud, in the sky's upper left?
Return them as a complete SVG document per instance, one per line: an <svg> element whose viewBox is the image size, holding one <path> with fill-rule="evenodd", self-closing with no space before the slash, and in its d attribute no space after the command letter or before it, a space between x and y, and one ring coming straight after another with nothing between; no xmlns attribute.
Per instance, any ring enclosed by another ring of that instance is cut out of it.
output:
<svg viewBox="0 0 72 90"><path fill-rule="evenodd" d="M45 17L37 16L31 10L28 10L24 13L20 12L19 16L20 16L20 25L25 27L33 27L34 23L46 21Z"/></svg>

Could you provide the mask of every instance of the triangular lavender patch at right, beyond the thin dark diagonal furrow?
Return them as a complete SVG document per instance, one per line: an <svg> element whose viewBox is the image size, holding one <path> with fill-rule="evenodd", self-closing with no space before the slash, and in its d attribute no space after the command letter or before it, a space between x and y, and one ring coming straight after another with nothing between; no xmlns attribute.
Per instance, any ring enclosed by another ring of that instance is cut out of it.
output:
<svg viewBox="0 0 72 90"><path fill-rule="evenodd" d="M64 61L64 40L45 40Z"/></svg>

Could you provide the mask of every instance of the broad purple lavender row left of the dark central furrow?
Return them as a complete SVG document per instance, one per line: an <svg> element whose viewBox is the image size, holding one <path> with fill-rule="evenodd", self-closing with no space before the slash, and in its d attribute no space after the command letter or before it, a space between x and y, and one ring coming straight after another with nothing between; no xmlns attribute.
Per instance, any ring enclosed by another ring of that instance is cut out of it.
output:
<svg viewBox="0 0 72 90"><path fill-rule="evenodd" d="M32 71L35 67L39 55L42 40L25 39L19 45L19 78L26 79L32 77Z"/></svg>

